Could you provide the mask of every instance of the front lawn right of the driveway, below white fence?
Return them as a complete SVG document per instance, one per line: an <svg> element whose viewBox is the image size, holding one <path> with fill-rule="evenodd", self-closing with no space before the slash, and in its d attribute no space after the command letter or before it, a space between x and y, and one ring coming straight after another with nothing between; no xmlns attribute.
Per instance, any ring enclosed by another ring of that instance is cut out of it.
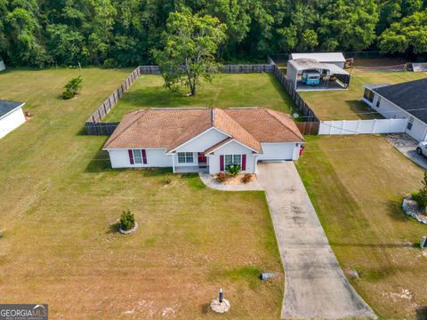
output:
<svg viewBox="0 0 427 320"><path fill-rule="evenodd" d="M427 226L402 212L423 171L382 136L316 137L297 164L343 270L384 319L424 319Z"/></svg>

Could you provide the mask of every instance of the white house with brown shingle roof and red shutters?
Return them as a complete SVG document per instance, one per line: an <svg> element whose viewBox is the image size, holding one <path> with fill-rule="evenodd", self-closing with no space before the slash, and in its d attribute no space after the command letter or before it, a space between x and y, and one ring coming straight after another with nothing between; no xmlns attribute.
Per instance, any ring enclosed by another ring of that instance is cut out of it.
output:
<svg viewBox="0 0 427 320"><path fill-rule="evenodd" d="M303 142L290 116L267 108L150 108L125 115L103 150L113 168L256 173L260 160L297 160Z"/></svg>

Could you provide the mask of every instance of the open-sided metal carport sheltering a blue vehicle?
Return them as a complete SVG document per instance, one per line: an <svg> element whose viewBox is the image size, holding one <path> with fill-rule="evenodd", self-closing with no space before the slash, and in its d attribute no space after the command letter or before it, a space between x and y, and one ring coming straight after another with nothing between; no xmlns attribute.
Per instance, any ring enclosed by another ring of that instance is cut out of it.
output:
<svg viewBox="0 0 427 320"><path fill-rule="evenodd" d="M304 83L304 73L317 75L316 85ZM334 63L320 62L311 58L297 58L287 61L286 78L297 91L347 89L350 73Z"/></svg>

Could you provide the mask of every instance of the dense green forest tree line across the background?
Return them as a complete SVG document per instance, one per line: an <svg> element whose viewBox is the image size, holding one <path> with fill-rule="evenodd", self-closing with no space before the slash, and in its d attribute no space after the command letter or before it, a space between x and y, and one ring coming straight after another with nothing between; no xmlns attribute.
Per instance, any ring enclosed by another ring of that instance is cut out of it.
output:
<svg viewBox="0 0 427 320"><path fill-rule="evenodd" d="M427 55L427 0L0 0L0 56L14 66L154 62L171 12L226 26L222 61L278 52Z"/></svg>

